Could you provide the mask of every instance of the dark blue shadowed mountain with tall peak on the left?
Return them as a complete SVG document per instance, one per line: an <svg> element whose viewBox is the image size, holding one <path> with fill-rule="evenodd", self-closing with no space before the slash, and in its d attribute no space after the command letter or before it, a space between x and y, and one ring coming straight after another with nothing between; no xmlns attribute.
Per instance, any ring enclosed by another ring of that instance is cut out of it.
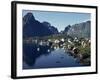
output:
<svg viewBox="0 0 100 80"><path fill-rule="evenodd" d="M48 22L40 23L35 19L32 13L27 13L23 17L23 37L42 37L57 34L57 28L51 26L50 23L47 23Z"/></svg>

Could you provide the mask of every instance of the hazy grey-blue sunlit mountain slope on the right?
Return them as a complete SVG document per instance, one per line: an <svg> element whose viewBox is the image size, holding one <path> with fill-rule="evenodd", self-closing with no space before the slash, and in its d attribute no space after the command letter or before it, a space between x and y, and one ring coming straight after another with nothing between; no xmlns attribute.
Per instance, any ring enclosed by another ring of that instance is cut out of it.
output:
<svg viewBox="0 0 100 80"><path fill-rule="evenodd" d="M64 33L72 37L78 38L90 38L91 34L91 21L86 21L72 26L67 26L64 30Z"/></svg>

